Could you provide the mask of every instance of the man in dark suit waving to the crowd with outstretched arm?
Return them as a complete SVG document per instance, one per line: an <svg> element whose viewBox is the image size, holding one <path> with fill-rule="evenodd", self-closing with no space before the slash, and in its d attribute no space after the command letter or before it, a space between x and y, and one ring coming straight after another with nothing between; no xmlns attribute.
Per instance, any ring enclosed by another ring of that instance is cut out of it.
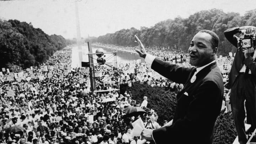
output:
<svg viewBox="0 0 256 144"><path fill-rule="evenodd" d="M212 144L215 121L223 100L223 79L216 63L218 36L208 30L199 31L192 39L188 51L193 68L164 62L147 54L137 36L140 47L136 50L151 68L184 88L177 94L177 107L171 126L144 129L142 138L156 144Z"/></svg>

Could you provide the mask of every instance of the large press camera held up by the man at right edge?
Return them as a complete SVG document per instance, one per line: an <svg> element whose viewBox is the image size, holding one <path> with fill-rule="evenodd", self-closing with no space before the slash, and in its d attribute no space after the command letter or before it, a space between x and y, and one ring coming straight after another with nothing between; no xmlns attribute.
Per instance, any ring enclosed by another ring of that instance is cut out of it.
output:
<svg viewBox="0 0 256 144"><path fill-rule="evenodd" d="M243 33L238 38L238 49L247 49L251 47L256 47L256 36L253 33L245 34L245 30L239 31L239 33Z"/></svg>

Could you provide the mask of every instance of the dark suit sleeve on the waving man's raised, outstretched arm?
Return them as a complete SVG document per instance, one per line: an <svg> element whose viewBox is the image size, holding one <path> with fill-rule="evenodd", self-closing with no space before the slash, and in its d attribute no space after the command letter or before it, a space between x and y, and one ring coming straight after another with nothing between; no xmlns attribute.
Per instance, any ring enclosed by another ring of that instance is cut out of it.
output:
<svg viewBox="0 0 256 144"><path fill-rule="evenodd" d="M165 78L170 79L179 84L186 83L192 70L192 68L183 68L176 64L165 62L158 58L154 59L151 68L159 74L161 74L162 76L164 76Z"/></svg>

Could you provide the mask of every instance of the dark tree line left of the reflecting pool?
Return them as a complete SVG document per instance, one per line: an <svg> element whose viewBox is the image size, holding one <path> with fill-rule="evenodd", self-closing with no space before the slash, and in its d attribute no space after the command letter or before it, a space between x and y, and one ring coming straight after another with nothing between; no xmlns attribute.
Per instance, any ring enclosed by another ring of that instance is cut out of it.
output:
<svg viewBox="0 0 256 144"><path fill-rule="evenodd" d="M67 46L56 34L48 35L32 24L0 19L0 66L28 68L45 62L56 50Z"/></svg>

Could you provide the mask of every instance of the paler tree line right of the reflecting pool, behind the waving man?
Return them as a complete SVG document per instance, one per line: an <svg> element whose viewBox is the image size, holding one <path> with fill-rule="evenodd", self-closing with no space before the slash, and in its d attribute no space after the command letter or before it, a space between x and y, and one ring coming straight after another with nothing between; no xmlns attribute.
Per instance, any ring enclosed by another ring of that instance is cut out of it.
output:
<svg viewBox="0 0 256 144"><path fill-rule="evenodd" d="M97 42L120 46L136 46L134 35L136 34L146 47L169 48L171 50L183 50L187 52L190 41L200 30L211 30L219 36L219 55L228 55L235 52L235 48L225 39L223 32L228 28L238 26L256 26L256 9L250 10L244 16L239 13L225 13L219 9L203 10L190 15L188 18L180 16L156 23L150 28L140 27L140 30L132 27L122 29L115 33L107 33L99 36ZM95 39L93 40L95 41Z"/></svg>

